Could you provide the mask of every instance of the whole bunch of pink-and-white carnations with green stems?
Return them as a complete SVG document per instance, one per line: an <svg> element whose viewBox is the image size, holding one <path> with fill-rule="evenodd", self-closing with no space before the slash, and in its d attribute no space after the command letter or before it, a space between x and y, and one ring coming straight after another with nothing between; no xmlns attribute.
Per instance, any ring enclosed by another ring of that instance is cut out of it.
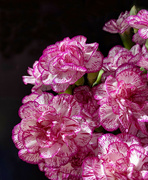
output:
<svg viewBox="0 0 148 180"><path fill-rule="evenodd" d="M12 139L48 179L148 179L148 11L133 7L103 29L124 47L104 57L98 43L67 37L23 76L33 88Z"/></svg>

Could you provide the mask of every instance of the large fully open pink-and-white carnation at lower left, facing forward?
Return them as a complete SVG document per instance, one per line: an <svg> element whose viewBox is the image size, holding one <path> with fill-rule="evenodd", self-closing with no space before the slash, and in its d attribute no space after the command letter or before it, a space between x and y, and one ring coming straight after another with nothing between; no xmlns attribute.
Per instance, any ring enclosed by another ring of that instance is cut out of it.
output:
<svg viewBox="0 0 148 180"><path fill-rule="evenodd" d="M23 102L19 110L22 121L12 135L22 160L33 164L48 161L50 167L59 167L89 143L91 129L71 95L31 94Z"/></svg>

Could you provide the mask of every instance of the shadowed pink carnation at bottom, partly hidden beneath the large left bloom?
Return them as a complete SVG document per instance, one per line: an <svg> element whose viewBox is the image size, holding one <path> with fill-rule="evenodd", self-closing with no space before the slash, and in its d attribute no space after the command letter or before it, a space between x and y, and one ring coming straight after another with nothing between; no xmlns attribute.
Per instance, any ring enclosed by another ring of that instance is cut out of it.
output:
<svg viewBox="0 0 148 180"><path fill-rule="evenodd" d="M83 147L78 148L78 152L71 156L67 164L57 168L51 168L50 162L39 163L41 171L51 180L82 180L82 164L83 161L91 156L98 154L98 138L102 133L93 134L89 143Z"/></svg>

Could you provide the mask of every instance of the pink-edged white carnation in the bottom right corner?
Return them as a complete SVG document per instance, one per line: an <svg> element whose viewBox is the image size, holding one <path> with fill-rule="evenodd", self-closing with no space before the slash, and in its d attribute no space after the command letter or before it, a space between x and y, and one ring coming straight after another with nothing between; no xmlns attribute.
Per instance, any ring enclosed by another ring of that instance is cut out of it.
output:
<svg viewBox="0 0 148 180"><path fill-rule="evenodd" d="M83 163L83 180L147 180L148 155L138 138L105 134L98 144L98 157L89 157Z"/></svg>

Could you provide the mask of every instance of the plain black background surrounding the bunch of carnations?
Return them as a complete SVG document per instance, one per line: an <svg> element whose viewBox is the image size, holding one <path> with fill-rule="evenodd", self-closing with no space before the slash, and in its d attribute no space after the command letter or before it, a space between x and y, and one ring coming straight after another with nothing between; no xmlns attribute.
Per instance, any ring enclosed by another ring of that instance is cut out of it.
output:
<svg viewBox="0 0 148 180"><path fill-rule="evenodd" d="M104 23L133 4L148 8L146 0L0 0L0 180L47 179L37 165L18 158L11 140L13 127L20 122L21 100L32 87L22 82L28 66L46 46L76 35L98 42L107 56L121 40L118 34L104 32Z"/></svg>

